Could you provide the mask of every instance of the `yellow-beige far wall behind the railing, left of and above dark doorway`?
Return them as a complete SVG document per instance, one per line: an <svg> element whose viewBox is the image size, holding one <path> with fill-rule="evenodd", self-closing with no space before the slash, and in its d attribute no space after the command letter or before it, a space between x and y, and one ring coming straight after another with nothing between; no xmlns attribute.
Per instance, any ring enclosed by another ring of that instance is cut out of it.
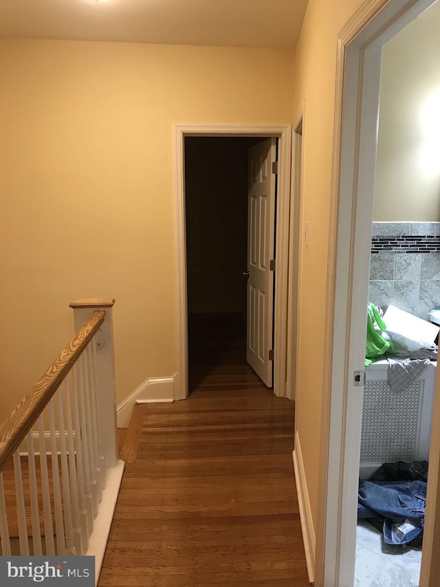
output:
<svg viewBox="0 0 440 587"><path fill-rule="evenodd" d="M0 42L0 331L5 416L111 296L117 399L177 372L173 123L283 123L292 52ZM274 107L276 105L276 107Z"/></svg>

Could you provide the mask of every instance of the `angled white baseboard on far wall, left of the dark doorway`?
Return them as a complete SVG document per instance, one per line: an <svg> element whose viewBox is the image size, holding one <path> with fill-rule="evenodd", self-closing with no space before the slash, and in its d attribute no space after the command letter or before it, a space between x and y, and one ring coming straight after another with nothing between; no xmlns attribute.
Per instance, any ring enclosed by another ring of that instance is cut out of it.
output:
<svg viewBox="0 0 440 587"><path fill-rule="evenodd" d="M132 394L116 408L118 428L126 428L130 423L135 403L166 403L174 401L174 377L146 379Z"/></svg>

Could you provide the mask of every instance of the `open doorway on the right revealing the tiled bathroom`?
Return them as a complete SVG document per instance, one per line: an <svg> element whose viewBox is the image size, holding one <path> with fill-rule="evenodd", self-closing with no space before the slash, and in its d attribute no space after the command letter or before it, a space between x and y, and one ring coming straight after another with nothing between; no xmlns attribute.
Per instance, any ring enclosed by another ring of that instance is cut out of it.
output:
<svg viewBox="0 0 440 587"><path fill-rule="evenodd" d="M440 302L439 28L437 3L382 52L369 301L384 313L393 346L366 367L360 450L360 500L371 499L377 480L390 483L371 500L379 512L391 491L405 501L408 482L426 497L437 366L437 332L428 321ZM384 575L419 585L422 497L419 511L399 524L397 509L385 530L380 513L358 506L356 585Z"/></svg>

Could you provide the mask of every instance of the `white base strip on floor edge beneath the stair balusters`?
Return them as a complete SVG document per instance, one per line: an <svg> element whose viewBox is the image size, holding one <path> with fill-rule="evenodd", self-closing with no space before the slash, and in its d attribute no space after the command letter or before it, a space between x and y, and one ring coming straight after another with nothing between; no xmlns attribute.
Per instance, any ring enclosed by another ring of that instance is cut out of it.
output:
<svg viewBox="0 0 440 587"><path fill-rule="evenodd" d="M94 530L89 538L87 556L95 557L95 585L98 585L99 575L104 561L105 549L109 540L111 522L118 501L119 489L122 483L125 463L118 460L115 467L105 471L105 489L102 491L102 500L99 504L98 515L94 520Z"/></svg>

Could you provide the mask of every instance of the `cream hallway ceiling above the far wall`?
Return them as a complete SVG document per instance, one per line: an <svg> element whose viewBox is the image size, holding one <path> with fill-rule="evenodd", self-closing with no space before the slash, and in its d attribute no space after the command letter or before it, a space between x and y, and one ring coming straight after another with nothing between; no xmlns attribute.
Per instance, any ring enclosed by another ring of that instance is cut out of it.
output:
<svg viewBox="0 0 440 587"><path fill-rule="evenodd" d="M295 47L307 0L1 0L0 37Z"/></svg>

